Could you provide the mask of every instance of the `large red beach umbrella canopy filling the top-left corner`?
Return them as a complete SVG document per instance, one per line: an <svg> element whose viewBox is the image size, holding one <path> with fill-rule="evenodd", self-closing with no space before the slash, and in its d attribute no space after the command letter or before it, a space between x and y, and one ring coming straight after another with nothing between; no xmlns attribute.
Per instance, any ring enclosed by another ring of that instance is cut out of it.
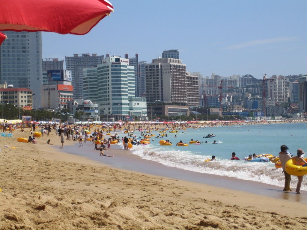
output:
<svg viewBox="0 0 307 230"><path fill-rule="evenodd" d="M83 35L111 12L107 0L1 0L0 31Z"/></svg>

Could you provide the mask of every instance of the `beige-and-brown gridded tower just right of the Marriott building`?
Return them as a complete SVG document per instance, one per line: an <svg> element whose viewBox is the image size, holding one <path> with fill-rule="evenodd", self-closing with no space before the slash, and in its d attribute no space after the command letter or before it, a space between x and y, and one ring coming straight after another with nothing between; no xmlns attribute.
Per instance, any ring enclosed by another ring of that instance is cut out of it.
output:
<svg viewBox="0 0 307 230"><path fill-rule="evenodd" d="M145 64L147 102L187 105L186 65L181 59L157 58Z"/></svg>

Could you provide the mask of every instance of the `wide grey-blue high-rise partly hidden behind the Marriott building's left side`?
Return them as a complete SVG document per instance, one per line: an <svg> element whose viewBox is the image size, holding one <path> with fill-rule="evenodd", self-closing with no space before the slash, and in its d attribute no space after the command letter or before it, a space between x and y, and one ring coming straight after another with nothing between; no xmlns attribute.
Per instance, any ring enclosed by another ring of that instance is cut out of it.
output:
<svg viewBox="0 0 307 230"><path fill-rule="evenodd" d="M72 71L73 97L83 99L83 68L97 67L102 63L102 56L97 54L74 54L65 56L66 70Z"/></svg>

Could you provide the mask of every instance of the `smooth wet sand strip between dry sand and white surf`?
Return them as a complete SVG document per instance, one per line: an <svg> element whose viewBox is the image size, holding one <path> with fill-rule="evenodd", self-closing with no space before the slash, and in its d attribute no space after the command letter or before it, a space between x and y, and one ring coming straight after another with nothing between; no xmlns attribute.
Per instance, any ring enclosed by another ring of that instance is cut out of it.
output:
<svg viewBox="0 0 307 230"><path fill-rule="evenodd" d="M85 157L95 163L99 163L99 161L102 160L104 161L103 164L105 166L118 170L128 170L135 173L145 173L152 176L161 176L170 179L215 186L218 188L243 191L250 194L266 196L268 198L274 197L276 199L307 203L307 193L305 192L299 195L294 192L285 193L282 191L282 187L280 186L165 166L155 161L142 159L140 156L134 155L130 151L125 151L123 150L122 145L111 145L111 149L104 152L107 155L114 155L114 158L104 157L102 159L99 157L98 151L96 153L96 151L94 152L94 150L91 151L90 149L87 149L86 151L88 155L76 155L74 152L76 152L78 148L78 146L74 146L69 150L65 149L64 152L74 156Z"/></svg>

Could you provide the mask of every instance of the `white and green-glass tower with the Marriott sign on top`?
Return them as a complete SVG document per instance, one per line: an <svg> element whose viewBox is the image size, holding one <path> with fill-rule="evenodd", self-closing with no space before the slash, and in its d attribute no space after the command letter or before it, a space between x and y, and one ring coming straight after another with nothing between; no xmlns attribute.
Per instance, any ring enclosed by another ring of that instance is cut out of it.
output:
<svg viewBox="0 0 307 230"><path fill-rule="evenodd" d="M134 67L129 59L107 57L97 67L100 114L130 115L128 98L135 96Z"/></svg>

